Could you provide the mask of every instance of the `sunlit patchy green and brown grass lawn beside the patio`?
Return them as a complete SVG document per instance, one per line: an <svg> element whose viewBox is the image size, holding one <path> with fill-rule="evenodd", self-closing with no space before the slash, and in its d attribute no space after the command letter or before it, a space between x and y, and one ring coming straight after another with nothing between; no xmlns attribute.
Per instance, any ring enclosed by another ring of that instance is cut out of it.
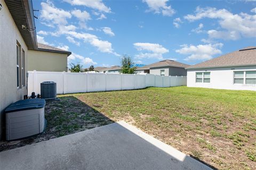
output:
<svg viewBox="0 0 256 170"><path fill-rule="evenodd" d="M256 92L171 87L59 97L74 112L84 109L75 97L215 168L256 169Z"/></svg>

